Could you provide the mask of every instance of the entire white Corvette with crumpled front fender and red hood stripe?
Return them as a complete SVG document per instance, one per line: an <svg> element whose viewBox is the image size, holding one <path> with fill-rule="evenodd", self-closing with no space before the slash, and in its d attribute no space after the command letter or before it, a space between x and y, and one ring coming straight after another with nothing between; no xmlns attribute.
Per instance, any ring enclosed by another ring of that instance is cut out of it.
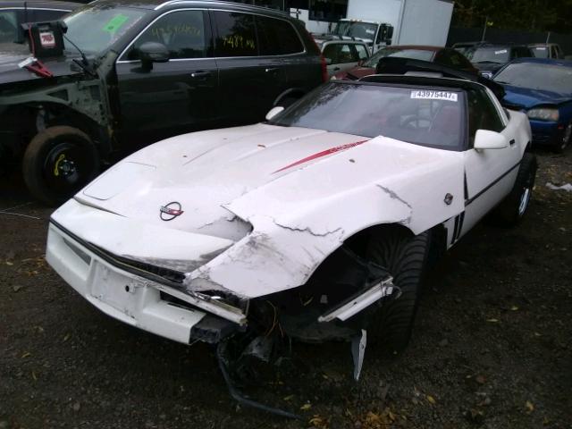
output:
<svg viewBox="0 0 572 429"><path fill-rule="evenodd" d="M525 214L526 115L477 81L420 75L332 81L281 110L114 165L52 215L47 261L174 341L366 331L402 349L428 257L489 212Z"/></svg>

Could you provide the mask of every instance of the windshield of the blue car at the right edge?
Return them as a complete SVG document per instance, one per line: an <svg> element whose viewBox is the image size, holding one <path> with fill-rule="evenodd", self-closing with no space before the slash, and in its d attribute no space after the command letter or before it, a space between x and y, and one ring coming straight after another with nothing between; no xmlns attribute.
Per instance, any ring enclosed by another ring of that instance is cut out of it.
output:
<svg viewBox="0 0 572 429"><path fill-rule="evenodd" d="M572 67L553 64L509 64L494 80L515 87L572 93Z"/></svg>

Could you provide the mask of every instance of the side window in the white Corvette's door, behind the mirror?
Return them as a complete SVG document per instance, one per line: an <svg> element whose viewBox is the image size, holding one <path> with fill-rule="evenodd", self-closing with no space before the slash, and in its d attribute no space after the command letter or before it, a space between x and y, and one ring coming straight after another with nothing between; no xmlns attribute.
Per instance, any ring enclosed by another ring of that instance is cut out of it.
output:
<svg viewBox="0 0 572 429"><path fill-rule="evenodd" d="M468 104L468 138L470 147L475 142L476 130L491 130L501 132L504 124L495 105L482 90L467 90Z"/></svg>

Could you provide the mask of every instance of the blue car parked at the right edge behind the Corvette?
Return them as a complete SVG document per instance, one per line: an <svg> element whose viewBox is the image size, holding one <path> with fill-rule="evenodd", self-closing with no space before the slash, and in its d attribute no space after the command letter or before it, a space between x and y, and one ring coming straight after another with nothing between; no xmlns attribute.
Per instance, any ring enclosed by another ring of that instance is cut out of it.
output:
<svg viewBox="0 0 572 429"><path fill-rule="evenodd" d="M502 104L526 112L533 145L562 152L572 138L572 61L521 58L504 66L494 80L506 92Z"/></svg>

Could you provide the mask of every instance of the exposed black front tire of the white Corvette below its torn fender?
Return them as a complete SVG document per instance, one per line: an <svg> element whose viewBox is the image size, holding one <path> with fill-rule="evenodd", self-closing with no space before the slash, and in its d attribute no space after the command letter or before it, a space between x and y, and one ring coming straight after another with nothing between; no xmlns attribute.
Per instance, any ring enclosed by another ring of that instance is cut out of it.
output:
<svg viewBox="0 0 572 429"><path fill-rule="evenodd" d="M367 328L368 337L388 354L400 353L411 337L429 241L429 232L412 237L395 227L381 228L369 241L367 259L388 270L401 290L400 298L384 302L374 313Z"/></svg>

